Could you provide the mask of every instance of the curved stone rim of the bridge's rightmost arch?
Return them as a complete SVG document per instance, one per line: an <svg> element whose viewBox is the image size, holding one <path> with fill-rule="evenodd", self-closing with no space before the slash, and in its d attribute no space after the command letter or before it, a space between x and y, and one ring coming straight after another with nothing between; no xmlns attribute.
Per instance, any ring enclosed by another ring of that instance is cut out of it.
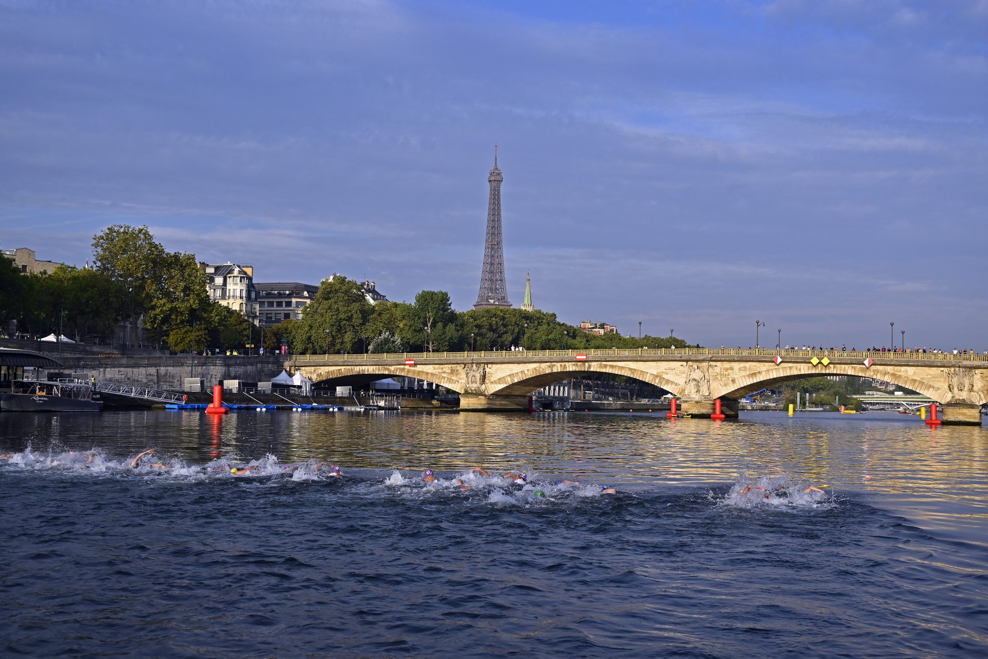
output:
<svg viewBox="0 0 988 659"><path fill-rule="evenodd" d="M790 364L753 371L733 379L712 382L710 394L713 398L741 398L749 393L754 393L760 389L773 386L774 384L781 384L788 380L826 375L852 375L883 379L887 382L912 389L913 391L918 391L934 400L943 401L949 397L948 392L936 385L916 379L897 369L885 369L882 367L871 367L868 369L864 366L833 363L827 367L826 371L821 371L819 367L814 367L811 364Z"/></svg>

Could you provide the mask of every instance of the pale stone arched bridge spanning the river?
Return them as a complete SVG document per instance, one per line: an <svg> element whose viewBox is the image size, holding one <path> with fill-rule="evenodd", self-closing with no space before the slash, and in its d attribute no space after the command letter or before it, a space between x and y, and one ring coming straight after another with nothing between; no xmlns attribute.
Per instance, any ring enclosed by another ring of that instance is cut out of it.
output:
<svg viewBox="0 0 988 659"><path fill-rule="evenodd" d="M313 381L418 377L460 394L461 410L528 409L543 386L584 373L626 375L678 396L683 411L709 416L713 401L737 415L737 399L789 379L859 375L940 401L945 424L981 424L988 356L766 349L548 350L398 355L297 355L286 367Z"/></svg>

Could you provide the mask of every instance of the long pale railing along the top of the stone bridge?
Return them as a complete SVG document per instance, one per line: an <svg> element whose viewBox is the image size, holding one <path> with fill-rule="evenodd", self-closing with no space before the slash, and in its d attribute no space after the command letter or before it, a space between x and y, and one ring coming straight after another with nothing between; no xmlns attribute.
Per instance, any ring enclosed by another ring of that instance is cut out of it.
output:
<svg viewBox="0 0 988 659"><path fill-rule="evenodd" d="M587 359L600 357L764 357L771 360L774 357L800 357L812 359L853 359L863 361L871 359L874 362L883 361L925 361L925 362L988 362L988 355L968 352L967 354L953 353L917 353L917 352L881 352L850 351L850 350L776 350L774 348L607 348L594 350L523 350L523 351L484 351L484 352L434 352L434 353L357 353L345 355L293 355L295 362L403 362L422 360L429 362L482 362L498 359L545 359L570 358L584 356Z"/></svg>

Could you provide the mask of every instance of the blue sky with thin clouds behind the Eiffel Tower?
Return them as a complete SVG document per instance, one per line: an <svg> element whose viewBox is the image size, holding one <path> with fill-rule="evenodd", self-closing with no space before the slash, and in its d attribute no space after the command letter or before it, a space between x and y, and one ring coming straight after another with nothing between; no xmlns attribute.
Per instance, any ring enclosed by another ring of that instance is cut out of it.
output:
<svg viewBox="0 0 988 659"><path fill-rule="evenodd" d="M988 0L0 0L0 247L988 349ZM768 336L767 336L768 335Z"/></svg>

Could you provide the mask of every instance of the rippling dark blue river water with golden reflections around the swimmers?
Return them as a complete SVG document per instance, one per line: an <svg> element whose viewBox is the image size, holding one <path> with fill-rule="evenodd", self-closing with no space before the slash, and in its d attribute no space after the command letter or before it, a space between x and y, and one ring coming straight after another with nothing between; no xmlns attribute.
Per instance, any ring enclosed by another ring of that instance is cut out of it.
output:
<svg viewBox="0 0 988 659"><path fill-rule="evenodd" d="M881 413L0 414L0 653L985 657L986 449Z"/></svg>

